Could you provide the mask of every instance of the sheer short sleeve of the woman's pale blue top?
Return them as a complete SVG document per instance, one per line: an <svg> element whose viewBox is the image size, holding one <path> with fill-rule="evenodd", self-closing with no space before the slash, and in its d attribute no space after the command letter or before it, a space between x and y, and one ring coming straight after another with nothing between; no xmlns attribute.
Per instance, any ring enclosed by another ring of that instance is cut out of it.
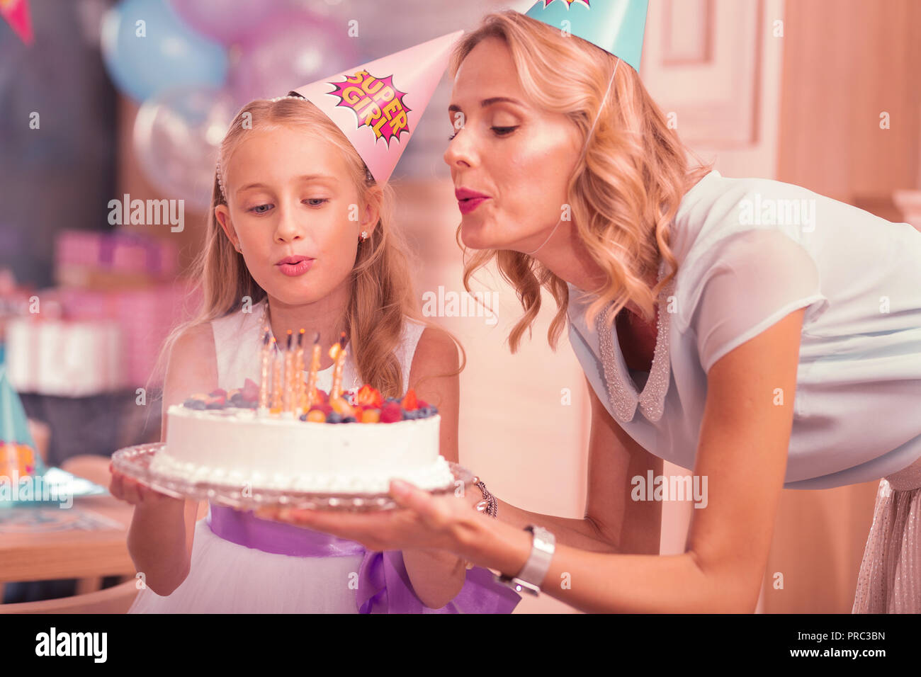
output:
<svg viewBox="0 0 921 677"><path fill-rule="evenodd" d="M705 372L794 310L813 315L828 302L810 253L780 231L748 230L717 247L692 321Z"/></svg>

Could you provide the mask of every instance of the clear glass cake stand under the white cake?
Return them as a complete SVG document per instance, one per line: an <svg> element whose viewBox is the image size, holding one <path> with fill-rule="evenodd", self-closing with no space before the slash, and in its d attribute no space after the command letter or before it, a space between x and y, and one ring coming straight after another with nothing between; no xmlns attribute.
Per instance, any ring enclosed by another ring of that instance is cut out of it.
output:
<svg viewBox="0 0 921 677"><path fill-rule="evenodd" d="M188 498L199 501L211 501L217 505L251 510L266 506L285 506L287 508L309 508L320 510L391 510L398 508L389 494L318 494L304 491L282 489L263 489L242 484L216 484L212 482L192 482L185 478L156 473L150 469L150 461L158 451L166 447L163 442L139 444L134 447L119 449L112 454L112 467L119 473L131 477L140 484L173 498ZM476 477L457 463L450 463L454 473L454 482L429 491L432 495L445 495L451 492L466 491L476 481Z"/></svg>

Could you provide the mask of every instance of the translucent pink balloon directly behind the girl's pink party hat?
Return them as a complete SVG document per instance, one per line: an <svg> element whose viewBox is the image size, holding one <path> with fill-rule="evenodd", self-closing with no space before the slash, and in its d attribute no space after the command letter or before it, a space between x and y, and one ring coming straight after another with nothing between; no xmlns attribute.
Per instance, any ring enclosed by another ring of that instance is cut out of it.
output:
<svg viewBox="0 0 921 677"><path fill-rule="evenodd" d="M306 12L286 12L267 19L241 44L230 88L243 105L274 99L359 62L355 40L344 22Z"/></svg>

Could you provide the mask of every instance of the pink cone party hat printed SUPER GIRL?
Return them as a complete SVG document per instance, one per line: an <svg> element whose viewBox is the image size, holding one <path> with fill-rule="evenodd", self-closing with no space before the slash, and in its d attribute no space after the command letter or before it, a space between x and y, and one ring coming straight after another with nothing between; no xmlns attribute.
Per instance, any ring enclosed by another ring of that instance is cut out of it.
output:
<svg viewBox="0 0 921 677"><path fill-rule="evenodd" d="M293 93L326 113L379 183L391 178L462 30L318 80Z"/></svg>

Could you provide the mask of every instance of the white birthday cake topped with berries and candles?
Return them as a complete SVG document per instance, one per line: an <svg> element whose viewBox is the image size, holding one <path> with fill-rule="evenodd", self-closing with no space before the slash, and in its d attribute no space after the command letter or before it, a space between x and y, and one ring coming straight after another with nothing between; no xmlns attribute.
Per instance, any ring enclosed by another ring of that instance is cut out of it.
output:
<svg viewBox="0 0 921 677"><path fill-rule="evenodd" d="M315 386L319 348L309 379L303 351L266 339L262 384L193 395L167 411L167 439L150 469L170 477L251 489L318 494L386 494L391 478L433 490L454 476L439 453L437 408L408 391L384 398L370 385L343 392L344 349L329 393Z"/></svg>

